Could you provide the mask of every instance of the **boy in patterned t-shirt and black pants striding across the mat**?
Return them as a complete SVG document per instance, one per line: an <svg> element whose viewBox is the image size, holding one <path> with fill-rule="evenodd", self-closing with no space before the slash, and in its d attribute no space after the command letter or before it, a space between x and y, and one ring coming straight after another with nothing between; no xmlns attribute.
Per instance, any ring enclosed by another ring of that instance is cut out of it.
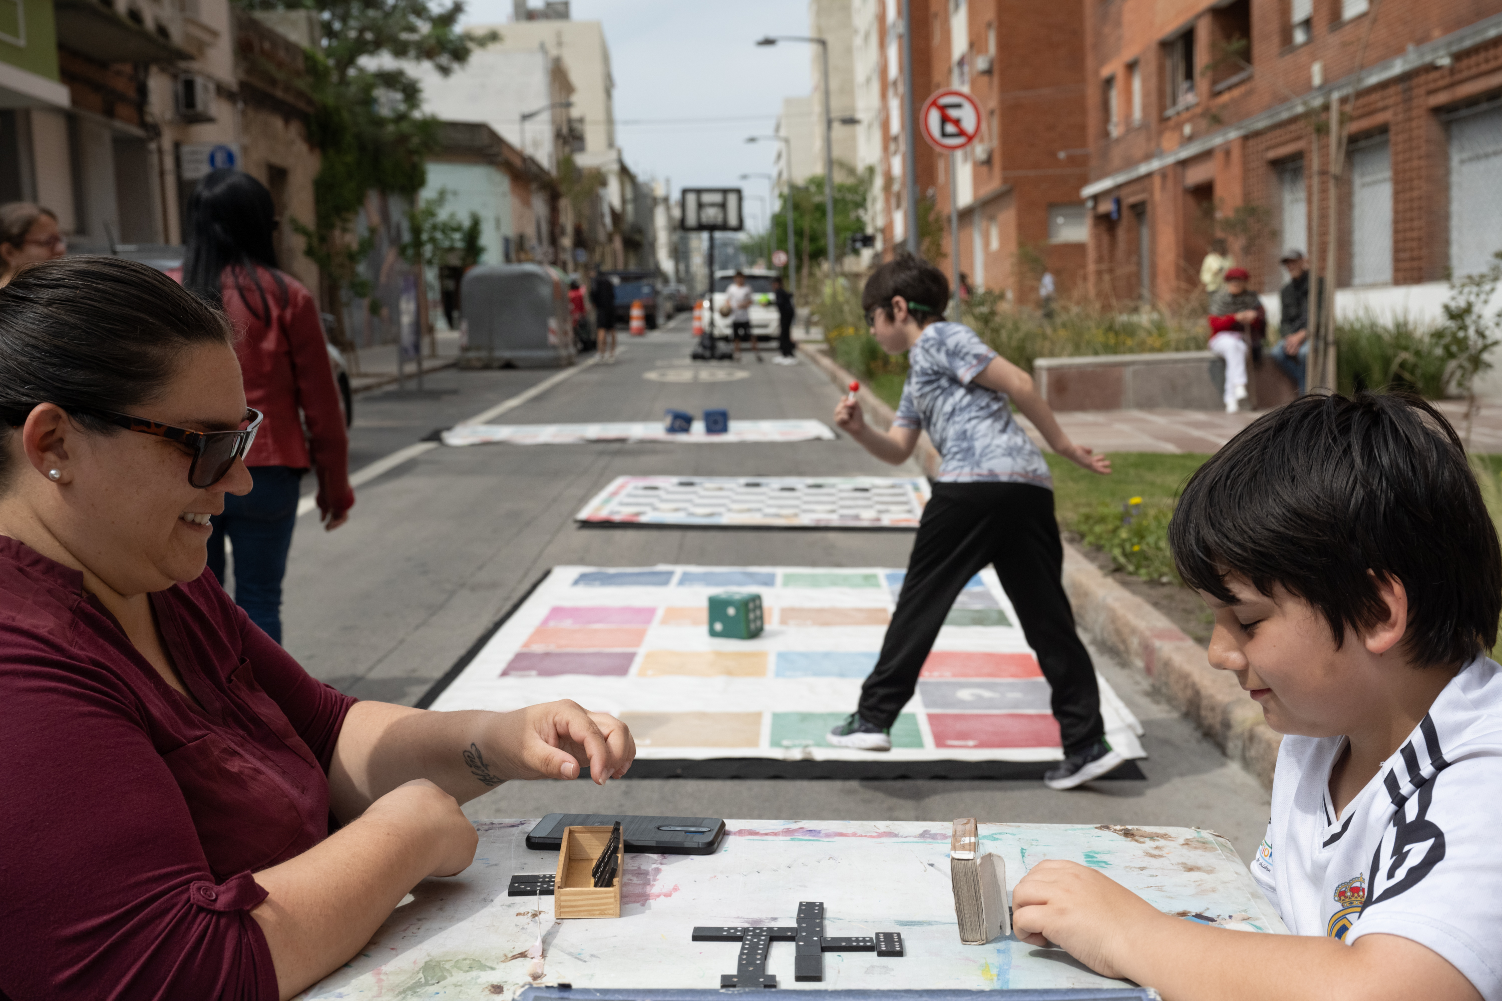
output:
<svg viewBox="0 0 1502 1001"><path fill-rule="evenodd" d="M861 687L861 705L828 740L891 750L891 726L913 696L945 615L966 582L991 564L1053 690L1063 761L1044 782L1072 789L1117 767L1122 756L1105 743L1095 665L1063 593L1048 464L1012 419L1009 402L1059 455L1092 473L1110 473L1111 465L1069 441L1027 372L985 347L975 330L943 323L948 303L943 272L913 257L876 269L861 297L877 342L892 354L907 351L907 383L885 434L865 423L853 399L840 402L835 423L894 465L907 461L927 431L943 468L913 540L882 654Z"/></svg>

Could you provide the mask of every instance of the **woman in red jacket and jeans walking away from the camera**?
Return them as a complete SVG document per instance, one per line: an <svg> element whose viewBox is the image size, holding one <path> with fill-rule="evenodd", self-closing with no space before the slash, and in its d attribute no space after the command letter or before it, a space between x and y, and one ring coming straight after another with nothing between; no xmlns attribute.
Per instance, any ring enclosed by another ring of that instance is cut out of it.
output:
<svg viewBox="0 0 1502 1001"><path fill-rule="evenodd" d="M245 398L266 425L245 464L255 489L225 498L213 518L209 569L224 579L224 539L234 545L234 602L281 642L281 582L297 522L302 474L318 477L318 512L333 531L354 506L350 440L318 320L318 303L278 270L276 210L264 185L216 170L188 200L188 248L179 281L222 308L236 330ZM306 428L306 431L303 431Z"/></svg>

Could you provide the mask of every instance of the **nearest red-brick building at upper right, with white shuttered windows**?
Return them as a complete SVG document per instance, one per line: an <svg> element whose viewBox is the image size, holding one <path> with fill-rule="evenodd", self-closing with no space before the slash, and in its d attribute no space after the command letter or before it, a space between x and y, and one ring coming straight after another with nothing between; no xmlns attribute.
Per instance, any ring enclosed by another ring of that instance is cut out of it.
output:
<svg viewBox="0 0 1502 1001"><path fill-rule="evenodd" d="M1086 65L1098 296L1182 296L1217 237L1274 293L1334 218L1337 309L1431 315L1502 248L1502 0L1101 0Z"/></svg>

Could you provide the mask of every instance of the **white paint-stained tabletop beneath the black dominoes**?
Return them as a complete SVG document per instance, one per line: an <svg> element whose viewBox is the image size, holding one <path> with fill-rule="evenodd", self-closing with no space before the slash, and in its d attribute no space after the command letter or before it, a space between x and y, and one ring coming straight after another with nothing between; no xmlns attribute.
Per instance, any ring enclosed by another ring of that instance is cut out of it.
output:
<svg viewBox="0 0 1502 1001"><path fill-rule="evenodd" d="M514 873L550 873L532 851L536 821L481 822L475 864L425 879L348 965L303 998L514 996L523 954L551 897L508 897ZM713 855L626 855L619 918L569 920L545 935L539 983L575 987L718 987L736 942L695 942L695 924L793 924L801 900L823 900L828 936L901 932L906 956L826 953L822 983L795 983L793 944L775 942L768 972L798 989L1110 987L1059 950L1015 938L961 945L949 884L949 824L725 821ZM1286 932L1230 842L1188 827L981 824L1006 861L1008 891L1044 858L1093 866L1184 920ZM517 957L520 956L520 957Z"/></svg>

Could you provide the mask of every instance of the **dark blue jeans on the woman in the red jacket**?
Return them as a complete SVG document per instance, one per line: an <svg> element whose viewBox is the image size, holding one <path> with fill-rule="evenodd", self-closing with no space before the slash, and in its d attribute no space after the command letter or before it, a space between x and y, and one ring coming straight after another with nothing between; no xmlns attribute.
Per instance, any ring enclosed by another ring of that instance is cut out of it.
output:
<svg viewBox="0 0 1502 1001"><path fill-rule="evenodd" d="M224 495L224 513L215 515L209 536L209 569L224 582L224 537L234 546L234 603L266 635L281 642L281 579L297 524L302 474L288 465L251 468L255 486L245 497Z"/></svg>

